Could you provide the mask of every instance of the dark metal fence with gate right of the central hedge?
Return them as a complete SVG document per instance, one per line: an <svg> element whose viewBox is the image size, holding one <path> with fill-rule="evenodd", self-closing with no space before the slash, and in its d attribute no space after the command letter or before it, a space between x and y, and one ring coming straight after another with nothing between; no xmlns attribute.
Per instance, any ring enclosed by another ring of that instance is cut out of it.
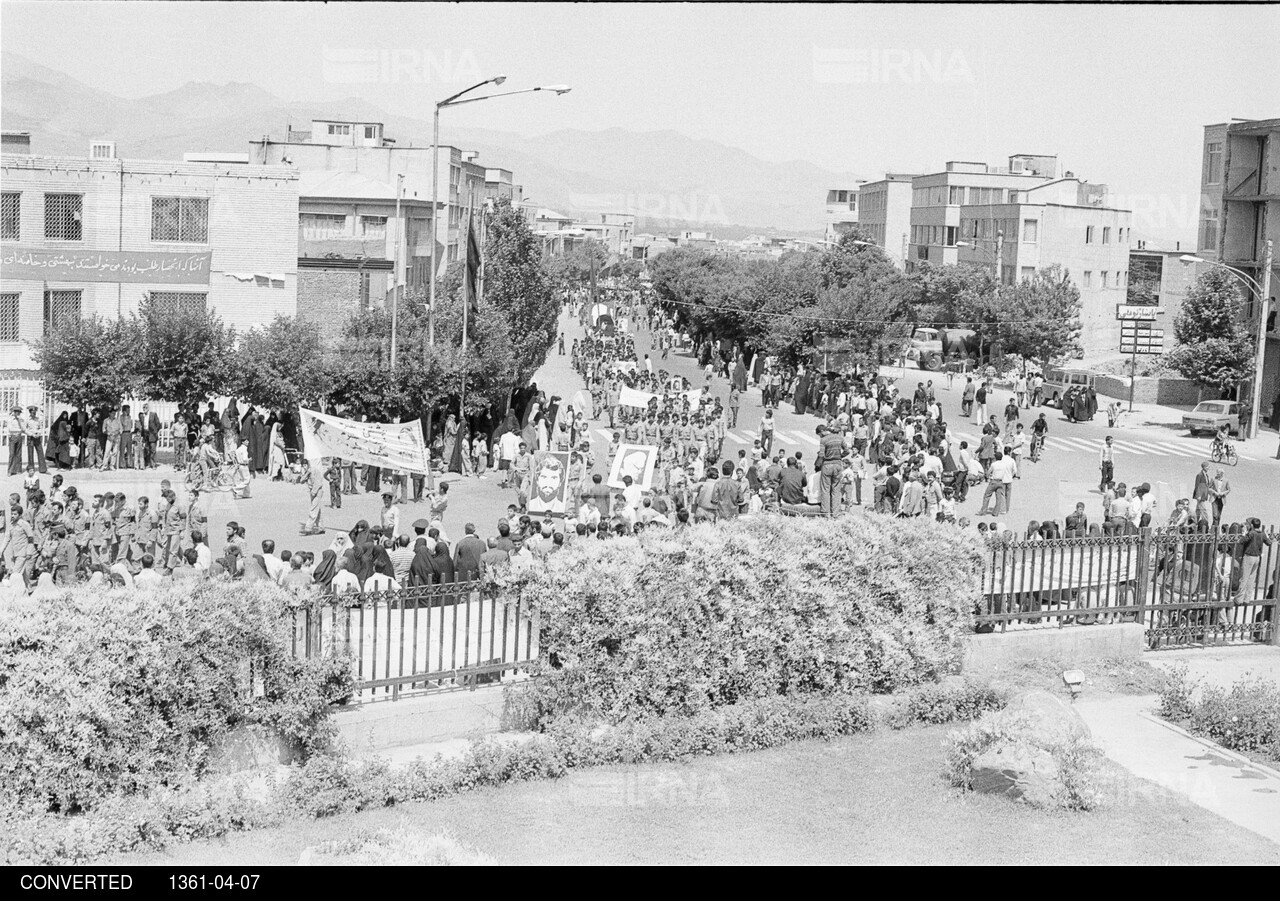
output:
<svg viewBox="0 0 1280 901"><path fill-rule="evenodd" d="M980 631L1140 622L1152 648L1271 641L1280 532L1263 534L1271 545L1252 561L1228 532L993 539L977 622Z"/></svg>

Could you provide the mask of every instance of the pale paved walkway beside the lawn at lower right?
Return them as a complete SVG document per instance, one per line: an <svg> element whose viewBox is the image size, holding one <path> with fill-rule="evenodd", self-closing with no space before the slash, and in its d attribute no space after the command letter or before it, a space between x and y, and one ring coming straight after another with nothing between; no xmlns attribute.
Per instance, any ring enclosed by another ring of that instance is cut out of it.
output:
<svg viewBox="0 0 1280 901"><path fill-rule="evenodd" d="M1280 648L1160 651L1146 660L1162 669L1185 664L1193 677L1221 686L1247 674L1280 678ZM1111 760L1280 843L1280 772L1166 723L1157 715L1158 704L1156 695L1085 696L1075 706Z"/></svg>

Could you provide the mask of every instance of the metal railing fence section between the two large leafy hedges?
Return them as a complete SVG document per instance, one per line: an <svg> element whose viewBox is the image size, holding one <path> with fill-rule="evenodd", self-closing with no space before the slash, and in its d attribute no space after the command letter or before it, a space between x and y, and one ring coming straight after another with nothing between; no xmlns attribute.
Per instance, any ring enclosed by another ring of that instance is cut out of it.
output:
<svg viewBox="0 0 1280 901"><path fill-rule="evenodd" d="M483 582L351 593L293 610L293 654L349 654L353 700L476 687L538 658L538 618Z"/></svg>

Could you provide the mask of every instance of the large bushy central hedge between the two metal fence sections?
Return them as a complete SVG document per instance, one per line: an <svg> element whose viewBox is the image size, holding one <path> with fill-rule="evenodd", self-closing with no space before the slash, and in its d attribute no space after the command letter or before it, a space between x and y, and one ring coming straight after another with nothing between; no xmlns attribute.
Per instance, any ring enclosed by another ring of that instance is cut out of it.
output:
<svg viewBox="0 0 1280 901"><path fill-rule="evenodd" d="M526 723L895 691L959 663L982 545L937 523L754 517L586 540L495 587L540 614Z"/></svg>

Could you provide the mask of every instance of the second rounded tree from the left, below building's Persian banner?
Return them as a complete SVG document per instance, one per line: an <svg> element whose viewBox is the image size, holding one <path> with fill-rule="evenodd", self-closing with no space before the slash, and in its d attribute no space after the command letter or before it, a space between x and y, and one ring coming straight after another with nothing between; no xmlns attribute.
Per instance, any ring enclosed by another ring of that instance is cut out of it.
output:
<svg viewBox="0 0 1280 901"><path fill-rule="evenodd" d="M186 403L234 390L236 331L214 310L173 310L147 294L133 321L146 397Z"/></svg>

